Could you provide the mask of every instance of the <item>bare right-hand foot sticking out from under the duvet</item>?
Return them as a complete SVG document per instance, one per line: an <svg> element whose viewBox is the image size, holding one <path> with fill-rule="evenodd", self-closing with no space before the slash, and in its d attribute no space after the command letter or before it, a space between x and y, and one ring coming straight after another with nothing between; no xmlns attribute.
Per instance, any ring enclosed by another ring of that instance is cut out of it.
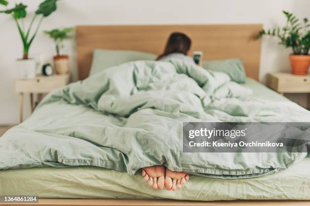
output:
<svg viewBox="0 0 310 206"><path fill-rule="evenodd" d="M189 180L189 174L185 172L174 172L166 169L165 187L166 190L177 190L182 188L182 184Z"/></svg>

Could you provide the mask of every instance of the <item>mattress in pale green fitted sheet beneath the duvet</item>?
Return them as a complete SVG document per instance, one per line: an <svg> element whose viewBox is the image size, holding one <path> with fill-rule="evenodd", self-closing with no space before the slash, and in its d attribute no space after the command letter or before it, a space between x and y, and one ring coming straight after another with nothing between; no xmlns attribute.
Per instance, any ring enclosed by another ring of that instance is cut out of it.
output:
<svg viewBox="0 0 310 206"><path fill-rule="evenodd" d="M289 101L253 79L255 97ZM191 176L176 192L153 190L139 174L98 167L32 168L0 171L0 195L45 198L171 198L184 200L310 199L310 156L289 169L258 178L217 179Z"/></svg>

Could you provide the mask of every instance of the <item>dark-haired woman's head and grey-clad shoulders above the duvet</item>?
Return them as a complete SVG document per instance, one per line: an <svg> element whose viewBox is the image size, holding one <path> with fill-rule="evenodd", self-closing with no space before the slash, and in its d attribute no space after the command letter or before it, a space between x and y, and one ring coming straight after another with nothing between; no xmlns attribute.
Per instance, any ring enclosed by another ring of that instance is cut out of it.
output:
<svg viewBox="0 0 310 206"><path fill-rule="evenodd" d="M195 64L193 59L187 56L190 45L191 40L186 34L173 32L167 41L164 53L157 60L162 61L168 58L176 58Z"/></svg>

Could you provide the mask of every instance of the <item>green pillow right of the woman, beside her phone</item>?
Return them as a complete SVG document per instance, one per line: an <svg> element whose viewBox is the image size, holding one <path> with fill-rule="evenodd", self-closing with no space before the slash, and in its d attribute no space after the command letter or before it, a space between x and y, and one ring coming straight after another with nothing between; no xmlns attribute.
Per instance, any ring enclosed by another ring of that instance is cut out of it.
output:
<svg viewBox="0 0 310 206"><path fill-rule="evenodd" d="M232 81L245 83L246 74L241 59L204 61L203 68L226 73Z"/></svg>

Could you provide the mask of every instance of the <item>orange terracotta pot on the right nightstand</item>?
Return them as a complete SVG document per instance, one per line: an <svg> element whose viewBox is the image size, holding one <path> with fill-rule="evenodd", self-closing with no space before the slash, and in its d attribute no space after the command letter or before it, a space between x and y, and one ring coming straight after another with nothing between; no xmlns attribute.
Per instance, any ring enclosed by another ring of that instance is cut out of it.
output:
<svg viewBox="0 0 310 206"><path fill-rule="evenodd" d="M306 75L310 66L310 55L290 55L292 74Z"/></svg>

